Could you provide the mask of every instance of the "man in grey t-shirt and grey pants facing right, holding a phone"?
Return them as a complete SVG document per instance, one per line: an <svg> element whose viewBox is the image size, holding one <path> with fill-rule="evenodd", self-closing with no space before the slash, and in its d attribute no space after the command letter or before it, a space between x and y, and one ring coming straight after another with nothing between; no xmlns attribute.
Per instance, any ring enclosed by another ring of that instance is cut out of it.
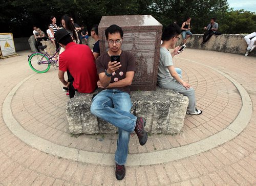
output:
<svg viewBox="0 0 256 186"><path fill-rule="evenodd" d="M170 24L162 34L163 43L160 48L160 59L158 65L157 84L161 88L173 89L188 98L187 114L199 115L201 110L196 108L195 90L188 83L181 79L181 72L176 71L173 64L173 57L179 54L180 47L175 48L179 40L181 29L177 24ZM174 51L170 54L168 49Z"/></svg>

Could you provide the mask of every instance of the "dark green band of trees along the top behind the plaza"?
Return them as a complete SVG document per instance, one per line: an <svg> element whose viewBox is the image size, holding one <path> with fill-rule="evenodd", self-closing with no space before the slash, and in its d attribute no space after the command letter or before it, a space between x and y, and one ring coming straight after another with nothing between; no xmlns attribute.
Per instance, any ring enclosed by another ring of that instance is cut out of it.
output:
<svg viewBox="0 0 256 186"><path fill-rule="evenodd" d="M191 17L193 33L203 33L203 27L216 17L223 33L249 33L255 30L255 13L228 8L227 0L0 0L0 32L12 32L14 37L32 35L32 26L46 31L50 16L71 15L77 24L89 29L99 24L104 15L151 14L165 27L175 20L181 26Z"/></svg>

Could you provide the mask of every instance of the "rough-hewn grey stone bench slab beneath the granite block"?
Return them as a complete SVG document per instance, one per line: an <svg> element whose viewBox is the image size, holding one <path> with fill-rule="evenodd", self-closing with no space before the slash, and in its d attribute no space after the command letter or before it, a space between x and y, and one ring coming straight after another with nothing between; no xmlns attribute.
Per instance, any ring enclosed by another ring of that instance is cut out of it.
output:
<svg viewBox="0 0 256 186"><path fill-rule="evenodd" d="M96 118L90 112L93 94L76 92L67 103L69 130L74 134L116 133L110 123ZM184 125L188 98L174 90L157 88L156 91L132 91L131 113L146 119L146 131L152 134L179 133Z"/></svg>

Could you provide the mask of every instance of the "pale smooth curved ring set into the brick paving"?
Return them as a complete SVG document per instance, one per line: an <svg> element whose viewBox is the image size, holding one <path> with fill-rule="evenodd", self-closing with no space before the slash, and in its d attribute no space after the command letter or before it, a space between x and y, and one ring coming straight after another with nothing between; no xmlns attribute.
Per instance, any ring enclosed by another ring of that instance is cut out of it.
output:
<svg viewBox="0 0 256 186"><path fill-rule="evenodd" d="M183 59L183 58L180 58ZM183 59L186 61L194 62L200 65L196 61L191 61ZM241 133L250 121L252 114L252 102L247 94L246 90L241 86L236 80L226 75L225 73L212 68L210 66L204 65L212 70L218 72L219 74L230 80L234 86L237 87L242 98L242 108L238 114L238 117L224 130L202 139L199 142L185 145L182 147L172 148L163 151L142 153L142 154L129 154L127 158L126 166L140 166L140 165L154 165L161 164L164 162L169 162L173 160L182 159L188 156L196 155L212 148L218 147L219 145L230 141L232 138L236 137ZM24 143L49 154L56 155L62 158L71 159L74 161L84 162L87 164L97 164L113 166L114 154L110 153L98 153L77 150L74 148L63 147L56 145L52 142L47 141L41 137L38 137L27 130L25 130L14 118L11 111L11 101L17 89L22 86L24 82L30 79L35 74L27 77L23 81L19 82L7 95L3 103L3 119L8 128L12 131L14 135L20 138Z"/></svg>

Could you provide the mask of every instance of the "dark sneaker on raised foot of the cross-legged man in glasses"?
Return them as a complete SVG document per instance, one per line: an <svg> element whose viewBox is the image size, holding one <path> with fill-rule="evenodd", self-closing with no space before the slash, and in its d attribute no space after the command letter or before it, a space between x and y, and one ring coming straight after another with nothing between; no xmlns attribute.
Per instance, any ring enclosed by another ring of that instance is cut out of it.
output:
<svg viewBox="0 0 256 186"><path fill-rule="evenodd" d="M146 125L146 120L144 118L137 118L136 126L134 131L136 132L140 145L145 145L147 141L147 133L144 129Z"/></svg>

